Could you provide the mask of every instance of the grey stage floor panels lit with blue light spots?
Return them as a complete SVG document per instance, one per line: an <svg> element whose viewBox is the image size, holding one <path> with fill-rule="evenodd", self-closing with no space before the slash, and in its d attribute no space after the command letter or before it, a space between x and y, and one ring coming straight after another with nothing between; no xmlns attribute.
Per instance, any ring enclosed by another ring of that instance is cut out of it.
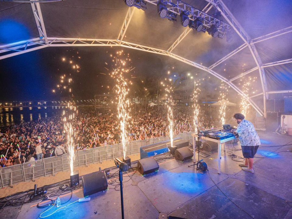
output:
<svg viewBox="0 0 292 219"><path fill-rule="evenodd" d="M222 150L221 174L217 174L217 151L203 158L208 172L196 171L188 167L193 160L184 163L174 159L160 164L159 171L141 176L125 175L124 210L125 218L155 219L167 216L193 218L292 218L292 136L280 136L259 132L262 145L256 154L255 173L244 172L240 162L228 157ZM235 147L238 147L235 145ZM241 151L235 151L241 156ZM197 160L197 157L196 157ZM47 218L100 218L119 219L120 191L109 189L91 195L89 202L74 203ZM119 187L118 187L119 189ZM64 196L62 201L70 196ZM70 202L82 198L82 190L76 190ZM69 202L69 203L70 203ZM34 219L44 209L33 206L5 207L3 218ZM56 208L54 207L54 210ZM50 211L50 213L52 213ZM48 214L46 214L48 215ZM45 215L44 215L45 216Z"/></svg>

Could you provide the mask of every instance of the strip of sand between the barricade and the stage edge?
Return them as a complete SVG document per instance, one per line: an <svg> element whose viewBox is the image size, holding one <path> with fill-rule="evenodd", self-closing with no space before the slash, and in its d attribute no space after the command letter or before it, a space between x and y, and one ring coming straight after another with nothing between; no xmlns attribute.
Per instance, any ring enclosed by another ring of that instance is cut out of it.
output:
<svg viewBox="0 0 292 219"><path fill-rule="evenodd" d="M128 155L131 158L131 161L136 161L140 159L140 153L136 155ZM92 172L96 172L99 170L99 167L101 169L109 168L115 166L115 163L113 160L107 160L102 163L96 163L96 164L90 164L87 167L82 166L78 167L77 169L79 171L79 176L83 176L85 174L89 174ZM70 179L70 171L67 172L58 172L55 176L42 176L40 178L37 178L35 182L29 181L29 182L19 182L18 184L13 185L13 188L4 187L0 189L0 198L9 196L13 193L26 191L28 189L33 189L34 185L37 184L38 187L42 187L45 185L50 185L56 182L63 181L65 179Z"/></svg>

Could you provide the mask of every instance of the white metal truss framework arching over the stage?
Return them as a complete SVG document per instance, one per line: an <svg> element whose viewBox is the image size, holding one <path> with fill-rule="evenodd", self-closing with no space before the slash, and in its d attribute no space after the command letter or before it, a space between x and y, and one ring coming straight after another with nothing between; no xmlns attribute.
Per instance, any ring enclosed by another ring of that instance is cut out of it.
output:
<svg viewBox="0 0 292 219"><path fill-rule="evenodd" d="M144 0L145 2L151 3L153 5L157 5L158 0ZM255 71L259 69L261 83L262 83L262 93L256 94L254 96L249 97L248 101L251 104L251 106L260 114L263 116L266 116L266 105L265 105L265 99L267 94L272 93L285 93L285 92L292 92L292 91L269 91L266 90L266 80L265 80L265 72L264 68L280 65L280 64L287 64L291 63L292 59L282 60L282 61L276 61L271 63L262 64L261 59L259 57L259 54L257 53L257 50L254 46L255 43L262 42L263 40L268 40L271 38L274 38L276 36L280 36L283 34L291 33L292 32L292 26L289 26L287 28L275 31L273 33L269 33L260 37L257 37L255 39L251 39L249 35L243 30L242 26L238 23L238 21L234 18L232 13L229 11L229 9L226 7L226 5L222 2L222 0L205 0L208 2L208 4L205 6L205 8L201 11L198 9L193 8L191 5L188 5L182 1L179 0L162 0L163 2L167 3L167 8L170 12L175 14L180 14L182 11L188 10L191 12L190 19L196 19L196 17L203 17L204 22L203 24L207 27L210 27L213 23L217 24L219 26L219 30L222 33L223 30L228 30L230 26L233 27L235 32L241 37L241 39L245 42L240 47L233 50L231 53L227 54L225 57L221 58L219 61L212 64L210 67L205 67L203 65L197 64L195 62L192 62L190 60L187 60L183 57L180 57L176 54L172 53L172 50L185 38L185 36L192 30L192 29L186 29L183 31L183 33L176 39L176 41L169 47L168 50L161 50L157 48L147 47L135 43L129 43L126 41L123 41L123 38L126 34L127 28L129 26L129 23L133 17L134 14L134 7L129 7L126 17L123 21L123 25L120 29L118 38L116 40L110 40L110 39L78 39L78 38L60 38L60 37L47 37L47 33L45 30L43 17L40 9L39 2L32 1L31 7L34 14L34 18L36 21L36 26L39 32L38 38L33 38L30 40L24 40L19 41L16 43L9 43L5 45L0 46L0 60L8 57L12 57L15 55L23 54L26 52L30 52L33 50L42 49L45 47L76 47L76 46L120 46L120 47L126 47L131 48L135 50L141 50L146 51L150 53L155 54L161 54L165 56L172 57L176 60L182 61L186 64L192 65L196 68L199 68L203 71L207 71L208 73L214 75L216 78L222 80L223 82L227 83L232 89L234 89L238 94L244 97L242 91L234 85L232 82L238 78L241 78L244 75L249 74L252 71ZM218 11L221 12L221 15L226 19L226 21L230 24L230 26L222 21L219 21L218 19L210 16L207 14L207 12L212 8L216 7ZM223 30L222 30L223 27ZM226 31L225 31L226 32ZM224 32L224 33L225 33ZM226 32L227 33L227 32ZM225 33L225 34L226 34ZM228 58L232 57L242 49L249 47L249 50L255 60L256 67L250 69L249 71L246 71L245 73L242 73L241 75L238 75L230 80L227 80L223 76L217 74L212 69L215 68L217 65L221 64L222 62L226 61ZM251 98L263 95L264 97L264 111L262 111L253 101Z"/></svg>

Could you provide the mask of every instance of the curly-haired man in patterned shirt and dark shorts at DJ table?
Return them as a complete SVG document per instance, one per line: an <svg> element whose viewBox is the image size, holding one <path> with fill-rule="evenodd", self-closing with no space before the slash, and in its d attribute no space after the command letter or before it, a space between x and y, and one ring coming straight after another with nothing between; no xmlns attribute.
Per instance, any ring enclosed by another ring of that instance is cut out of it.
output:
<svg viewBox="0 0 292 219"><path fill-rule="evenodd" d="M233 129L234 134L238 134L239 142L242 148L242 155L245 158L244 164L239 164L244 171L253 173L253 158L261 144L259 136L255 131L253 124L245 120L244 115L235 113L233 116L238 124L237 129Z"/></svg>

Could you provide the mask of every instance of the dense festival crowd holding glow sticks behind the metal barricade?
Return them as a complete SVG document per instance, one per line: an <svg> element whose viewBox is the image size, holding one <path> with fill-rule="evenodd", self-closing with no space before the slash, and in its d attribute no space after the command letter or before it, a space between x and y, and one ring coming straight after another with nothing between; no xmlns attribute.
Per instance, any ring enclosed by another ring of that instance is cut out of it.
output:
<svg viewBox="0 0 292 219"><path fill-rule="evenodd" d="M85 150L120 142L120 126L116 114L99 114L90 107L79 108L78 116L71 123L75 130L75 149ZM200 109L200 130L219 127L219 118L214 117L210 107ZM174 133L193 131L193 109L175 106ZM165 106L145 109L136 106L130 111L128 140L144 140L169 135ZM30 162L67 151L67 137L61 115L37 121L13 124L1 129L1 167Z"/></svg>

